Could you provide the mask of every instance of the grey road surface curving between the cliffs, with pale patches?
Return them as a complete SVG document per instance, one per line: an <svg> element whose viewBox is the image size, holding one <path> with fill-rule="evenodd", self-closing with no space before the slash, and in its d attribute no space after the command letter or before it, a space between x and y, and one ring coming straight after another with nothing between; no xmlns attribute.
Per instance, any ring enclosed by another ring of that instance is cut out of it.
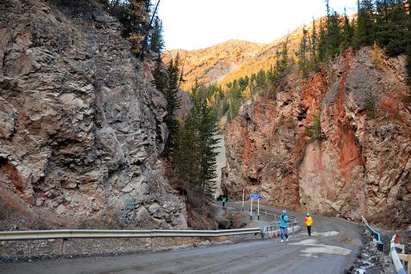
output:
<svg viewBox="0 0 411 274"><path fill-rule="evenodd" d="M261 209L279 210L271 206ZM303 223L303 214L290 214ZM361 245L356 225L315 215L313 219L312 236L303 227L288 242L275 238L113 258L14 262L0 264L0 273L343 273Z"/></svg>

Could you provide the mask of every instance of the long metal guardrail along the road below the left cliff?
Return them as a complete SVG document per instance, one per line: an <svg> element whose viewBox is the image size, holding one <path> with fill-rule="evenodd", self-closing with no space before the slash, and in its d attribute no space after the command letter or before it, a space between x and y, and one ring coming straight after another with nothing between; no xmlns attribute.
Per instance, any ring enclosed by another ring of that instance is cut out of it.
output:
<svg viewBox="0 0 411 274"><path fill-rule="evenodd" d="M27 230L0 232L3 240L48 240L69 238L158 238L158 237L218 237L261 233L260 227L226 230Z"/></svg>

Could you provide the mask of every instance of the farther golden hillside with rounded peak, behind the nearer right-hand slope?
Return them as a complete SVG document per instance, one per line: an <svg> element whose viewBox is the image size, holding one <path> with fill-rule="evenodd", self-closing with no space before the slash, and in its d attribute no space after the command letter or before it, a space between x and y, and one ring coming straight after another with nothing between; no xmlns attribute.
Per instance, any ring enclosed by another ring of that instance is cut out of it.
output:
<svg viewBox="0 0 411 274"><path fill-rule="evenodd" d="M225 74L234 71L244 62L251 60L262 48L262 44L242 40L229 40L206 49L186 51L176 49L165 51L162 58L167 64L171 56L179 53L180 62L184 62L183 90L190 90L195 79L201 84L219 81Z"/></svg>

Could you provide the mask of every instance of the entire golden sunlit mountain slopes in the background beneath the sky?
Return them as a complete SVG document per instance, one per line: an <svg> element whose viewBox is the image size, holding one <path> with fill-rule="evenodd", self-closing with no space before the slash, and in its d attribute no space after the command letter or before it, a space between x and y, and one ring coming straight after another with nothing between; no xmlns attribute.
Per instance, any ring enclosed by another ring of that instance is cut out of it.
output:
<svg viewBox="0 0 411 274"><path fill-rule="evenodd" d="M317 34L320 22L324 20L325 18L316 19ZM306 25L306 29L311 34L312 23ZM162 58L167 63L171 56L175 57L179 53L180 62L186 60L184 64L186 82L182 83L183 90L190 90L196 77L201 84L219 82L225 88L225 85L234 79L240 79L246 75L251 76L253 73L258 73L260 69L269 69L275 64L277 51L282 50L286 41L288 42L288 56L295 60L295 52L299 49L302 34L303 25L266 45L229 40L205 49L164 51Z"/></svg>

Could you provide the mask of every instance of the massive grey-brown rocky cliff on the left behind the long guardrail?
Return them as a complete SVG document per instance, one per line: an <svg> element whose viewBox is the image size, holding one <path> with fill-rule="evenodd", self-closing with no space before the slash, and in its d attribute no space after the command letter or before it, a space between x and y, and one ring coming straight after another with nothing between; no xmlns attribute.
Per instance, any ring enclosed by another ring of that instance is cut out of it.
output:
<svg viewBox="0 0 411 274"><path fill-rule="evenodd" d="M94 1L0 2L2 229L39 218L186 227L164 177L165 100ZM32 219L33 219L32 218Z"/></svg>

